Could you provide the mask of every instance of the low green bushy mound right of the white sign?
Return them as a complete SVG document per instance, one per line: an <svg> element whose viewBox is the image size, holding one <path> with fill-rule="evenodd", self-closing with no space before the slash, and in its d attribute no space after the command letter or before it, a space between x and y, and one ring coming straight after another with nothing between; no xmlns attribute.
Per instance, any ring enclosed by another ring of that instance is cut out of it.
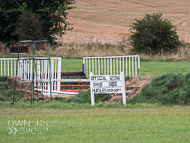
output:
<svg viewBox="0 0 190 143"><path fill-rule="evenodd" d="M139 95L128 99L128 103L158 103L161 105L190 103L190 73L160 75L147 83Z"/></svg>

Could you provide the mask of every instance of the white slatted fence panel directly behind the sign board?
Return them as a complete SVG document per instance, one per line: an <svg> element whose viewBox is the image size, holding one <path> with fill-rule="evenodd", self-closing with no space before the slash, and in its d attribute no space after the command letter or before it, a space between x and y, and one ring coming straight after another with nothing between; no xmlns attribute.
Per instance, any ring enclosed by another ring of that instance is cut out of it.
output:
<svg viewBox="0 0 190 143"><path fill-rule="evenodd" d="M94 75L119 75L122 71L125 76L140 77L140 57L112 56L112 57L84 57L84 73L89 78L90 72Z"/></svg>

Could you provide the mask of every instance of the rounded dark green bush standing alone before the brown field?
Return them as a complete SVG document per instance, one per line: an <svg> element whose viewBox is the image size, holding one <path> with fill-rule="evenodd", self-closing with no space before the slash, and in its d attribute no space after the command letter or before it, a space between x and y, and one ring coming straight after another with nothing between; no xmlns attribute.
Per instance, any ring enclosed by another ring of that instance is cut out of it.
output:
<svg viewBox="0 0 190 143"><path fill-rule="evenodd" d="M133 50L137 53L158 54L177 51L181 42L176 27L168 19L162 19L162 13L146 14L142 20L132 23L129 37Z"/></svg>

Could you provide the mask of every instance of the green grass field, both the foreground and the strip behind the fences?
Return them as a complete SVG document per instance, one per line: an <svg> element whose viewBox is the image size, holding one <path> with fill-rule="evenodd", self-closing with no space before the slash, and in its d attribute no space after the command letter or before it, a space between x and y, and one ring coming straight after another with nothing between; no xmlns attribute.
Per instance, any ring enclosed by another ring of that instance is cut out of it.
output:
<svg viewBox="0 0 190 143"><path fill-rule="evenodd" d="M190 62L141 62L141 76L189 71ZM62 72L82 59L62 59ZM190 142L190 108L157 104L0 102L0 142Z"/></svg>

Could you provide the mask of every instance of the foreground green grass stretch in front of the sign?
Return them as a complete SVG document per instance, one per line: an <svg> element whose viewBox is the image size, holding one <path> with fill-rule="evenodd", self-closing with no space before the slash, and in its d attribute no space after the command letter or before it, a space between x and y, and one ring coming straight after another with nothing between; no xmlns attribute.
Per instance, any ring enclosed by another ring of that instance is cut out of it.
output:
<svg viewBox="0 0 190 143"><path fill-rule="evenodd" d="M152 108L154 105L151 105L152 109L141 109L132 105L130 107L136 109L101 109L103 105L98 106L83 110L1 107L0 142L190 142L189 107ZM16 124L19 120L30 122L30 126ZM38 126L37 120L39 123L42 121ZM15 127L18 132L8 134L8 127ZM33 128L33 131L28 131L29 128Z"/></svg>

